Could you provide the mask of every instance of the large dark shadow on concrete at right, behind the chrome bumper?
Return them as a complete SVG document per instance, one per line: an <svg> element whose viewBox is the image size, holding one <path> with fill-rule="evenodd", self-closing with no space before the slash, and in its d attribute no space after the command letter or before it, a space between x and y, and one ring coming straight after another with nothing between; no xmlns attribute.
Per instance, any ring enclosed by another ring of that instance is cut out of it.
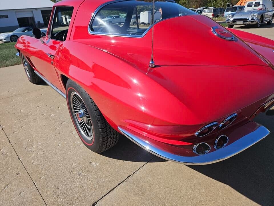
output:
<svg viewBox="0 0 274 206"><path fill-rule="evenodd" d="M259 114L255 121L267 127L271 134L225 161L189 167L229 185L260 205L274 205L274 116Z"/></svg>

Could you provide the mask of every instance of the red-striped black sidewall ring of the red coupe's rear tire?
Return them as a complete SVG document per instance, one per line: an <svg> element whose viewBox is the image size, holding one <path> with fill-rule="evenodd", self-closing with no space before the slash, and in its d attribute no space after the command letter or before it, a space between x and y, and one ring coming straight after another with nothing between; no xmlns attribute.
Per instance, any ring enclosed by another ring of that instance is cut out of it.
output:
<svg viewBox="0 0 274 206"><path fill-rule="evenodd" d="M78 126L78 124L76 122L77 120L74 115L74 111L72 109L71 102L70 102L72 92L77 92L81 96L84 104L86 105L88 113L90 114L90 119L91 119L92 128L93 128L93 138L91 140L86 139L81 134L81 132L80 132L81 128ZM78 133L80 139L85 144L85 146L87 146L90 150L97 152L100 148L100 131L99 131L98 123L96 120L96 114L94 113L94 110L90 109L90 108L92 108L92 105L90 103L88 94L78 84L70 81L67 83L66 99L67 99L68 110L69 110L70 117L72 119L72 123L73 123L75 130Z"/></svg>

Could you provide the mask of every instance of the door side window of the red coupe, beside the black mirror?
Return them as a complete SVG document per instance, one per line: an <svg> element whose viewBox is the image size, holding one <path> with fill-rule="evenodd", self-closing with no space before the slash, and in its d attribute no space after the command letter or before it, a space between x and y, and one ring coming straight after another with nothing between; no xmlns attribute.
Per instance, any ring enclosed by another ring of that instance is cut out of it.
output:
<svg viewBox="0 0 274 206"><path fill-rule="evenodd" d="M52 19L50 38L65 41L68 33L68 27L71 21L73 7L56 7Z"/></svg>

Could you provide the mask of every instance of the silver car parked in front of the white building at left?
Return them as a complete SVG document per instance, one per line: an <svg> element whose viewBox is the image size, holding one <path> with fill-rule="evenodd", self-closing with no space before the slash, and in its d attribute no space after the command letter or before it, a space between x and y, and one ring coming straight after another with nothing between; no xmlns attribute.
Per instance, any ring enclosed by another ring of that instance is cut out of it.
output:
<svg viewBox="0 0 274 206"><path fill-rule="evenodd" d="M22 35L32 36L31 30L33 27L20 27L15 29L13 32L6 32L0 34L0 43L1 42L16 42L19 37ZM41 30L42 34L45 36L47 33L46 29Z"/></svg>

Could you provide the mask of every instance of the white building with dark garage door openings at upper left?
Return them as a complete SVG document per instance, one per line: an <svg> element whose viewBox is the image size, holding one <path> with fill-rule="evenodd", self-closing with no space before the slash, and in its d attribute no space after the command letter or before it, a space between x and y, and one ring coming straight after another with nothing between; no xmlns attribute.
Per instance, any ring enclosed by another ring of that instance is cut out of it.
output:
<svg viewBox="0 0 274 206"><path fill-rule="evenodd" d="M50 0L3 0L0 3L0 33L19 27L45 27L53 7Z"/></svg>

